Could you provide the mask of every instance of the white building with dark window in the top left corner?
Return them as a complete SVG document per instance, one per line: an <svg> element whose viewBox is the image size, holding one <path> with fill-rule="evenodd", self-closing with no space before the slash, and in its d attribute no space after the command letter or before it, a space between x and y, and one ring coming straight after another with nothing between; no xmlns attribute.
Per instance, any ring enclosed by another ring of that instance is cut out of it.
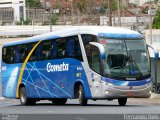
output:
<svg viewBox="0 0 160 120"><path fill-rule="evenodd" d="M13 8L14 21L26 19L25 0L0 0L0 9L1 8Z"/></svg>

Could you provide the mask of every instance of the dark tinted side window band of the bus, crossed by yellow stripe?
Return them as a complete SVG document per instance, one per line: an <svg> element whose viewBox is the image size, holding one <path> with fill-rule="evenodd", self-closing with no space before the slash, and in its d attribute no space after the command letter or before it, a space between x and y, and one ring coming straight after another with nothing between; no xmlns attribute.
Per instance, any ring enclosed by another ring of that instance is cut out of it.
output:
<svg viewBox="0 0 160 120"><path fill-rule="evenodd" d="M11 63L24 62L27 55L36 43L28 43L3 48L3 61ZM43 41L37 46L29 58L29 61L41 61L61 58L82 59L78 36L66 37L57 40Z"/></svg>

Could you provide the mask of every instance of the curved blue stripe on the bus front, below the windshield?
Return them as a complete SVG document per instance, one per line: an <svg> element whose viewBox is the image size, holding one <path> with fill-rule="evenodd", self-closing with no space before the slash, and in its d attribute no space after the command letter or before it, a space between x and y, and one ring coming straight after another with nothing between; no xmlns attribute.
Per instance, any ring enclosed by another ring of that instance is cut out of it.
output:
<svg viewBox="0 0 160 120"><path fill-rule="evenodd" d="M126 81L126 80L115 80L115 79L102 77L101 80L107 83L118 85L118 86L141 86L141 85L145 85L151 82L150 78L145 79L145 80Z"/></svg>

